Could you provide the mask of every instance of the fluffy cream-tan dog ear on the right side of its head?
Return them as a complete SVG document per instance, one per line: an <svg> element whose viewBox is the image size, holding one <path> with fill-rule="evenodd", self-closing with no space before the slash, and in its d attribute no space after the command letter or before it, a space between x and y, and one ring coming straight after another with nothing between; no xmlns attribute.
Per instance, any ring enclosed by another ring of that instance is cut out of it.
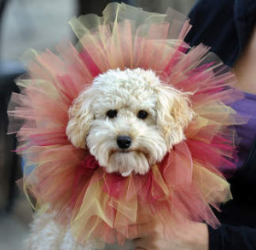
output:
<svg viewBox="0 0 256 250"><path fill-rule="evenodd" d="M184 129L195 113L190 108L189 93L183 93L167 85L161 85L157 92L157 125L168 148L172 148L185 138Z"/></svg>

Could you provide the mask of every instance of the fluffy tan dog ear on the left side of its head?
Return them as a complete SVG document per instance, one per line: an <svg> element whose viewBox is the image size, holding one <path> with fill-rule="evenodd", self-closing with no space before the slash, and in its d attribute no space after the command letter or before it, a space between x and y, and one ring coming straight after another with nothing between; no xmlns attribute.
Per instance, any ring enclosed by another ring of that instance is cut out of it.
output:
<svg viewBox="0 0 256 250"><path fill-rule="evenodd" d="M86 148L85 137L90 130L90 125L94 119L91 110L93 93L92 89L84 90L69 108L69 121L66 128L68 139L77 148Z"/></svg>

